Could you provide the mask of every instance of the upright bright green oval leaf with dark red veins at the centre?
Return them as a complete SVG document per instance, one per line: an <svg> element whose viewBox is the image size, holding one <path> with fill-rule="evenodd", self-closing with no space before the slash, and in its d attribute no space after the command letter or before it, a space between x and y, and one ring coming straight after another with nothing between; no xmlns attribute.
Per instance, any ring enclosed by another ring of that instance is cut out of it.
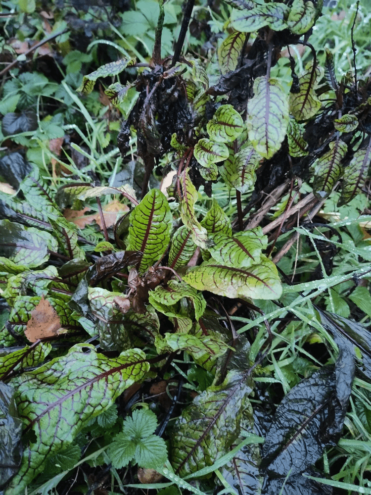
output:
<svg viewBox="0 0 371 495"><path fill-rule="evenodd" d="M151 189L130 214L128 249L141 251L138 266L144 273L166 251L170 243L172 214L161 191Z"/></svg>

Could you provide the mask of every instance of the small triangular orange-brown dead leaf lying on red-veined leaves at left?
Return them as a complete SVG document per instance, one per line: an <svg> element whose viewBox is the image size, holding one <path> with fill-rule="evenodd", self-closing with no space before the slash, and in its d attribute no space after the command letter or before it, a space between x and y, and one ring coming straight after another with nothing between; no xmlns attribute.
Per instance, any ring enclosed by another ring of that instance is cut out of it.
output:
<svg viewBox="0 0 371 495"><path fill-rule="evenodd" d="M49 301L44 299L43 296L39 304L31 311L31 318L24 332L25 336L30 342L36 342L38 339L58 335L59 329L59 316Z"/></svg>

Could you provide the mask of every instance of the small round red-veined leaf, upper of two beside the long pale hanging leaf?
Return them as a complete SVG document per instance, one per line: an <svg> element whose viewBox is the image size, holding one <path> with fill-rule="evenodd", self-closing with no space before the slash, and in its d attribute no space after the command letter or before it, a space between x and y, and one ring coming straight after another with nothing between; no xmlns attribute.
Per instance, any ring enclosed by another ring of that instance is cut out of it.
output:
<svg viewBox="0 0 371 495"><path fill-rule="evenodd" d="M221 105L207 123L206 129L212 141L231 143L242 133L243 120L232 105Z"/></svg>

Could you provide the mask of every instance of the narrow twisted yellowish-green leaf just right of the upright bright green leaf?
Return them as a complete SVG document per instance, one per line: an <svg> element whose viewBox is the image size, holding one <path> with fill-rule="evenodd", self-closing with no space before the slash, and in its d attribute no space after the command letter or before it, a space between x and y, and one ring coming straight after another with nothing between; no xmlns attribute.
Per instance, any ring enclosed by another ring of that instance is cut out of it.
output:
<svg viewBox="0 0 371 495"><path fill-rule="evenodd" d="M198 193L189 178L188 169L182 172L180 183L183 193L180 211L182 222L191 231L192 239L196 246L205 249L207 245L207 231L201 226L194 212L194 203L198 199Z"/></svg>

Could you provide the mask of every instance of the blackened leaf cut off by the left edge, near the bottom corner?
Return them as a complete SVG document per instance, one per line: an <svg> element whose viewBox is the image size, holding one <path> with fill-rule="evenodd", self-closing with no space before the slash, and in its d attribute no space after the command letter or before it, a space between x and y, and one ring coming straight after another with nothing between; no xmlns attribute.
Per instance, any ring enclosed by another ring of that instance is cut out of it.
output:
<svg viewBox="0 0 371 495"><path fill-rule="evenodd" d="M22 421L15 417L16 408L10 385L0 382L0 486L18 471L22 456Z"/></svg>

